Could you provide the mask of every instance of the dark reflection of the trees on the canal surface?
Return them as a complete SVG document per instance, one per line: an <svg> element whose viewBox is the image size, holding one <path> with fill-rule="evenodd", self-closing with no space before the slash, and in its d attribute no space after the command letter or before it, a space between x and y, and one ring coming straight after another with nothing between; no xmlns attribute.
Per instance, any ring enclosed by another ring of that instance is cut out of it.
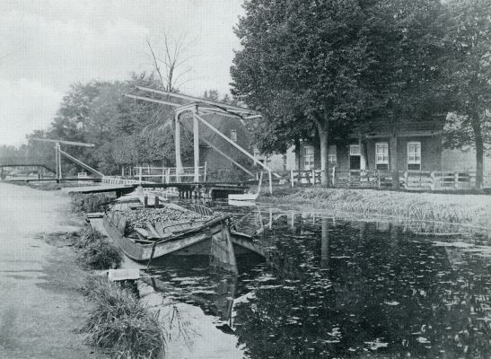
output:
<svg viewBox="0 0 491 359"><path fill-rule="evenodd" d="M432 240L278 217L255 295L235 305L239 342L258 359L491 357L488 258Z"/></svg>

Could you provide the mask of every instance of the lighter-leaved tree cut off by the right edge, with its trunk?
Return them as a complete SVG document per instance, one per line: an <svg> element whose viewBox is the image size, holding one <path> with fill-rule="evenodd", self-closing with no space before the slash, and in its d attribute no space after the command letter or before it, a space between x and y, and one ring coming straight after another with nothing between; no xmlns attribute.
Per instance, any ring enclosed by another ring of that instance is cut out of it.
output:
<svg viewBox="0 0 491 359"><path fill-rule="evenodd" d="M476 187L483 185L484 153L491 143L491 2L452 0L448 31L454 50L448 78L454 92L448 145L476 149Z"/></svg>

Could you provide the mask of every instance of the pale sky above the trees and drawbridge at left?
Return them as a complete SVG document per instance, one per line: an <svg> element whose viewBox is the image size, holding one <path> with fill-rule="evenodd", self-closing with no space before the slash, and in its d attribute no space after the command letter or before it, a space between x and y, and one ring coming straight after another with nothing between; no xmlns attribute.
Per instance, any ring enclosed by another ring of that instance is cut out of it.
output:
<svg viewBox="0 0 491 359"><path fill-rule="evenodd" d="M0 145L46 128L71 83L152 70L146 45L185 37L180 91L229 92L242 0L1 0Z"/></svg>

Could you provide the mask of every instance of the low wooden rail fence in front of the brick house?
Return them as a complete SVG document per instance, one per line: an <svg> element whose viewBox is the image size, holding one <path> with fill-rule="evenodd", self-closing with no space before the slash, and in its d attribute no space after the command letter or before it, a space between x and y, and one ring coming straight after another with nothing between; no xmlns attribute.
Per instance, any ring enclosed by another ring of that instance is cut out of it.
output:
<svg viewBox="0 0 491 359"><path fill-rule="evenodd" d="M320 184L320 170L290 171L283 173L280 183L295 185ZM471 171L399 171L401 188L408 189L463 189L474 188L476 172ZM329 184L332 187L382 188L392 186L390 171L349 170L329 171ZM484 187L491 187L491 173L484 176Z"/></svg>

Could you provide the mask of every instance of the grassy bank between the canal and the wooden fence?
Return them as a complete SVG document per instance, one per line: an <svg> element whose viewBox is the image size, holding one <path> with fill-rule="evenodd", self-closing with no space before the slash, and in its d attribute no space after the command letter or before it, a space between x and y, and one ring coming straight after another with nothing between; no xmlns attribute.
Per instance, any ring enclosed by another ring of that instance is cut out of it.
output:
<svg viewBox="0 0 491 359"><path fill-rule="evenodd" d="M491 196L396 192L376 189L282 188L259 201L300 210L398 220L461 223L491 228Z"/></svg>

